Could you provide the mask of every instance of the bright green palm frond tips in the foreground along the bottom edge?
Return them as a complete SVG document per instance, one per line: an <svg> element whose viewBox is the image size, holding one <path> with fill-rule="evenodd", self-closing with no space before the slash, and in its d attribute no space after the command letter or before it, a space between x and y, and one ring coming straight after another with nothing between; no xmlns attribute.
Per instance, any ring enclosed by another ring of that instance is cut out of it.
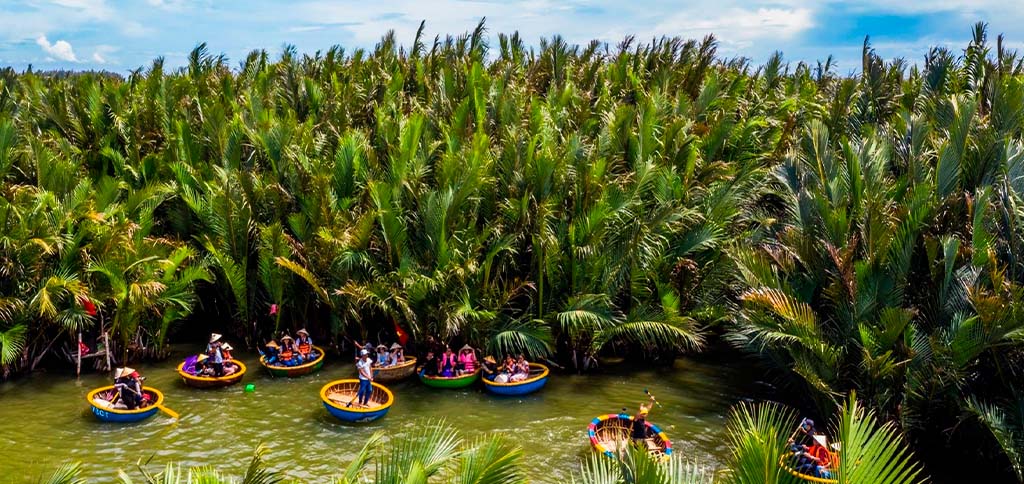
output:
<svg viewBox="0 0 1024 484"><path fill-rule="evenodd" d="M734 447L723 469L712 469L679 456L656 458L646 448L633 446L615 458L592 454L573 473L572 484L799 484L794 476L776 463L787 448L793 411L774 404L741 404L729 417L729 434ZM831 435L842 439L840 466L835 470L843 484L911 484L922 482L921 469L891 425L880 425L874 415L851 398L834 422ZM409 434L375 434L339 476L321 476L317 482L335 484L520 484L528 482L532 468L522 449L502 435L465 441L439 423L424 423ZM259 446L241 482L271 484L285 482L264 459ZM218 470L197 468L182 470L167 465L160 472L148 469L148 459L140 459L137 473L121 470L122 484L141 475L147 484L240 482ZM550 470L549 470L550 471ZM47 484L84 484L78 465L66 465L45 482ZM44 482L40 480L40 482ZM565 482L555 478L539 482Z"/></svg>

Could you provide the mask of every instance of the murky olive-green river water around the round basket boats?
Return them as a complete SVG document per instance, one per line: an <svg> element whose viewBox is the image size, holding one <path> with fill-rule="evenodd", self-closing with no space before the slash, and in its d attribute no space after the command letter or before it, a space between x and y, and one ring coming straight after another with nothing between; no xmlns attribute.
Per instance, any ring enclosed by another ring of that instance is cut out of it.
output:
<svg viewBox="0 0 1024 484"><path fill-rule="evenodd" d="M238 355L237 355L238 356ZM651 413L673 440L677 455L716 463L727 448L722 431L730 405L755 388L745 367L681 359L675 368L638 371L606 367L590 376L554 373L541 392L496 397L482 388L439 390L412 379L389 387L391 411L366 425L344 425L327 413L318 391L331 380L351 378L347 361L328 361L318 373L272 379L256 358L242 384L219 390L185 387L174 372L177 359L137 368L146 385L165 394L165 406L181 414L158 413L148 421L103 424L89 412L85 394L108 385L101 376L37 373L0 385L0 482L24 482L66 461L81 461L87 477L112 481L118 469L134 472L139 458L164 465L216 466L241 476L259 442L269 447L271 468L292 478L324 482L344 466L377 431L415 432L424 419L443 417L472 438L502 432L521 443L536 482L564 481L591 451L589 421L597 414L633 408L648 388L664 405ZM245 384L255 393L245 393Z"/></svg>

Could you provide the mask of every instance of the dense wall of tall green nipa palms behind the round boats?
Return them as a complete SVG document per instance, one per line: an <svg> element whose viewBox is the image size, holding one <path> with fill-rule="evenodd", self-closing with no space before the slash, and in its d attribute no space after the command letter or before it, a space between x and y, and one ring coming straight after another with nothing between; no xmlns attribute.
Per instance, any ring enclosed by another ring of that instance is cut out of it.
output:
<svg viewBox="0 0 1024 484"><path fill-rule="evenodd" d="M1001 37L912 60L865 40L841 74L712 37L422 32L0 72L3 377L82 332L131 358L406 332L577 371L714 349L805 414L862 405L919 480L1024 479L1024 61Z"/></svg>

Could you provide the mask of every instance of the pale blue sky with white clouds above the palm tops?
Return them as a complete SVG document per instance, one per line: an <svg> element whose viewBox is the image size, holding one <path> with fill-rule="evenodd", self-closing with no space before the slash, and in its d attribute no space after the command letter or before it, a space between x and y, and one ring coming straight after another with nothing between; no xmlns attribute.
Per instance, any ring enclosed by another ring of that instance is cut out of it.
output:
<svg viewBox="0 0 1024 484"><path fill-rule="evenodd" d="M206 42L239 65L253 49L280 53L372 48L389 30L410 45L426 33L458 35L481 17L492 44L518 31L529 45L561 35L612 47L628 35L700 39L713 33L720 54L763 62L779 50L791 62L823 60L841 73L859 68L864 36L885 58L921 62L930 46L962 51L977 21L990 40L1024 51L1022 0L0 0L0 65L24 70L106 70L125 74L162 56L186 63Z"/></svg>

